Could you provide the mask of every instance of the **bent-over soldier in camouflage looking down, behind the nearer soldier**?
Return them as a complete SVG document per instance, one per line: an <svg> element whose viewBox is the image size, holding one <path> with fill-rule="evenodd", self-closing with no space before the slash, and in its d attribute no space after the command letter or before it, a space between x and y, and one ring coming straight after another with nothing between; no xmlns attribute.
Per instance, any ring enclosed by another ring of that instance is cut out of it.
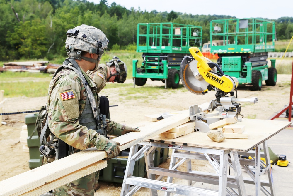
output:
<svg viewBox="0 0 293 196"><path fill-rule="evenodd" d="M99 93L106 86L106 82L124 83L127 76L127 67L123 61L114 56L110 62L99 64L95 71L88 71L87 74L97 85Z"/></svg>

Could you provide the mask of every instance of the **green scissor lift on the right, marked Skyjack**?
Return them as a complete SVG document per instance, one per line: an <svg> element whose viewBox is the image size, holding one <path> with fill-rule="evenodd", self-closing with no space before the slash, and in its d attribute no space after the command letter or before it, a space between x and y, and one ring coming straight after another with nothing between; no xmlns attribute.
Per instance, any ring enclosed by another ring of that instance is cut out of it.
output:
<svg viewBox="0 0 293 196"><path fill-rule="evenodd" d="M255 18L212 20L211 43L213 40L224 41L223 46L211 46L211 53L218 54L217 63L225 74L253 91L261 89L263 80L275 86L275 59L270 60L270 67L267 61L268 52L275 51L275 22Z"/></svg>

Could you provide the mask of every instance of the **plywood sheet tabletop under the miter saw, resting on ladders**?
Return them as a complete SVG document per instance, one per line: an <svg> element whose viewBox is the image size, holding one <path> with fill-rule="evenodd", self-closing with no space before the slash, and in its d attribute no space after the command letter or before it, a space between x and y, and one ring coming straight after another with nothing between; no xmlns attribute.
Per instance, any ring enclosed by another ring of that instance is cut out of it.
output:
<svg viewBox="0 0 293 196"><path fill-rule="evenodd" d="M188 135L183 135L175 139L165 139L156 136L147 141L188 145L198 148L247 152L256 145L263 143L268 138L277 134L284 128L287 128L291 125L291 122L262 119L242 119L242 122L238 122L237 124L245 125L245 131L243 133L248 135L248 139L225 139L222 142L214 142L207 136L207 133L192 132Z"/></svg>

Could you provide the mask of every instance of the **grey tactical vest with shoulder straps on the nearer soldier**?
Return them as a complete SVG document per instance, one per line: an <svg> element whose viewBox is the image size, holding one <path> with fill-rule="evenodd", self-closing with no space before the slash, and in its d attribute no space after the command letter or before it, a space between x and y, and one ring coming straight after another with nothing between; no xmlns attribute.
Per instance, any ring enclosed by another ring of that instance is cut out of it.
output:
<svg viewBox="0 0 293 196"><path fill-rule="evenodd" d="M71 63L73 65L73 67L68 66L69 63ZM67 59L65 59L62 66L60 66L56 70L53 78L56 76L56 74L62 68L71 69L76 74L78 74L78 76L81 78L81 81L85 87L86 104L85 104L85 108L84 108L81 116L78 119L79 124L81 124L82 126L86 126L88 129L96 130L96 132L99 133L100 135L104 135L105 137L107 137L107 130L105 128L105 126L107 125L106 115L103 115L100 113L100 109L99 109L98 105L96 105L96 101L94 100L93 93L92 93L90 87L88 86L88 82L86 81L84 75L82 74L79 65L76 63L76 61L73 58L67 58ZM98 104L99 104L99 96L98 96ZM46 141L46 137L49 135L49 133L46 133L46 130L48 130L47 126L48 126L48 116L47 116L45 125L42 127L42 133L40 135L40 144L42 145L42 143L44 143L45 147L46 146L49 146L49 147L54 146L55 147L55 145L53 144L54 134L52 132L51 132L52 139L50 140L50 142ZM69 146L68 144L66 144L62 140L58 139L58 147L56 148L56 151L55 151L56 159L60 159L60 158L68 156L72 150L73 149L71 146ZM41 153L43 155L45 155L42 151L41 151Z"/></svg>

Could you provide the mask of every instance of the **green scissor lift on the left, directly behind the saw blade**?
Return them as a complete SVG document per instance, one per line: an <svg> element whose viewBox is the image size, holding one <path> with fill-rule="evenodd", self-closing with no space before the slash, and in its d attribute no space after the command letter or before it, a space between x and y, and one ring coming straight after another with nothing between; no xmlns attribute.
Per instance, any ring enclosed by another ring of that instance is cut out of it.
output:
<svg viewBox="0 0 293 196"><path fill-rule="evenodd" d="M165 88L178 88L179 69L184 56L190 56L191 46L200 48L202 27L177 23L137 24L137 52L142 53L142 65L133 60L133 81L143 86L147 78L161 80Z"/></svg>

